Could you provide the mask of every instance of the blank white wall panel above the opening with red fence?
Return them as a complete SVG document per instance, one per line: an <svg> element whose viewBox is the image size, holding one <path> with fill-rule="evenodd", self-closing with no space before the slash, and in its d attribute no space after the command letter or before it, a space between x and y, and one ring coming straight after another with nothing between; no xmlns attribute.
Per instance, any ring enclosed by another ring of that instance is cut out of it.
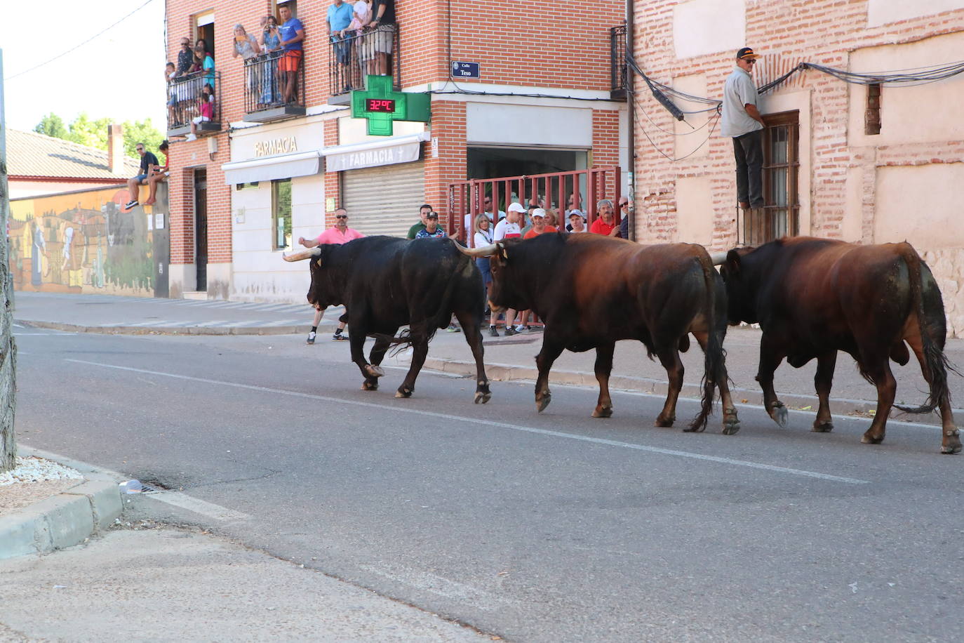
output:
<svg viewBox="0 0 964 643"><path fill-rule="evenodd" d="M593 147L591 107L466 104L469 145Z"/></svg>

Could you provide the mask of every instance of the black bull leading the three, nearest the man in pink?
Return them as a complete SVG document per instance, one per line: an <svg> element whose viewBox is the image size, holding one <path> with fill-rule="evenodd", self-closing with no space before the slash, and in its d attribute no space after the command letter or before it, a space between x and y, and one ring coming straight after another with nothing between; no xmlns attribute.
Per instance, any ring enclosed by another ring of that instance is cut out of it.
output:
<svg viewBox="0 0 964 643"><path fill-rule="evenodd" d="M385 375L379 364L388 347L411 344L412 365L395 397L410 397L428 355L428 342L452 315L459 320L475 358L475 403L489 401L489 380L482 362L485 287L475 263L448 239L396 239L370 236L344 245L322 245L285 256L311 259L308 303L322 309L344 304L351 325L352 362L364 376L362 390L376 390ZM409 331L395 337L398 329ZM375 345L364 359L365 337Z"/></svg>

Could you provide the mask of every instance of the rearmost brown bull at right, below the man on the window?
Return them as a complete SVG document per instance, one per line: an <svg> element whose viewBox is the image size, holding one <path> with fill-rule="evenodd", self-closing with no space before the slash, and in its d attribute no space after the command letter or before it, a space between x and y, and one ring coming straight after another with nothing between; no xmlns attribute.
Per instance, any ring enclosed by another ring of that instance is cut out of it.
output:
<svg viewBox="0 0 964 643"><path fill-rule="evenodd" d="M863 442L884 440L897 382L888 358L903 365L907 346L921 362L930 394L922 407L940 408L942 453L961 450L951 414L944 302L924 260L908 243L861 246L843 241L792 237L732 250L721 269L731 324L760 324L763 404L778 424L787 409L773 390L773 373L784 358L799 368L817 359L814 382L819 410L814 431L833 429L829 396L837 351L849 353L861 375L877 388L877 411Z"/></svg>

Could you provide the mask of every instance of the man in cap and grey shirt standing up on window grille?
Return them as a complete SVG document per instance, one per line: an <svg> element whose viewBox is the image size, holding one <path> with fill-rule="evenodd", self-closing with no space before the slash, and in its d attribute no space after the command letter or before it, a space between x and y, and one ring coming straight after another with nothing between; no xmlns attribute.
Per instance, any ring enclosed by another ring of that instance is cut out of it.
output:
<svg viewBox="0 0 964 643"><path fill-rule="evenodd" d="M760 58L750 47L736 52L736 69L723 86L720 133L733 139L736 201L744 210L763 207L763 117L750 72Z"/></svg>

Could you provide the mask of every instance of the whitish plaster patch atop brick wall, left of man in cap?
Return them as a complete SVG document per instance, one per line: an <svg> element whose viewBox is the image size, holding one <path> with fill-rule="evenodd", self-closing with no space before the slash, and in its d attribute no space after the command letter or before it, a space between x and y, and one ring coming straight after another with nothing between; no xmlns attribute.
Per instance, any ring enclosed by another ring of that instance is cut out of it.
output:
<svg viewBox="0 0 964 643"><path fill-rule="evenodd" d="M733 57L746 44L744 0L690 0L673 8L673 49L677 58L721 51Z"/></svg>

